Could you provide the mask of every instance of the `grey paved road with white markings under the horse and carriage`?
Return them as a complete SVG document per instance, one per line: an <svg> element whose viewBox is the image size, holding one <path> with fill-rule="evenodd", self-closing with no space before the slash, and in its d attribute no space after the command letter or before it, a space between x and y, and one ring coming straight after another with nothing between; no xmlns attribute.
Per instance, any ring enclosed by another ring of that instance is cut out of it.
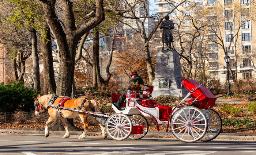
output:
<svg viewBox="0 0 256 155"><path fill-rule="evenodd" d="M62 135L0 134L0 155L256 155L253 140L212 140L184 143L172 138L102 140Z"/></svg>

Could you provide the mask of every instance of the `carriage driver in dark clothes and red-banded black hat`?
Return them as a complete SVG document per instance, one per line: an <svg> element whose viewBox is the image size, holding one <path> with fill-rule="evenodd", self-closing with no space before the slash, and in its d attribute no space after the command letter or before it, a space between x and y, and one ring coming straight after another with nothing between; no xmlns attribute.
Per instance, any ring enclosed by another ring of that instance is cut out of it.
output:
<svg viewBox="0 0 256 155"><path fill-rule="evenodd" d="M130 84L128 86L128 90L132 90L131 86L133 83L136 83L138 81L138 84L144 84L144 81L142 80L141 77L139 77L137 71L133 71L132 74L131 74L131 77L132 77L132 80L130 81ZM124 104L124 100L126 98L126 94L127 94L127 91L126 92L123 92L121 94L121 96L119 97L117 103L116 102L113 102L113 104L117 107L117 109L119 110L124 110L125 107L122 107L122 105Z"/></svg>

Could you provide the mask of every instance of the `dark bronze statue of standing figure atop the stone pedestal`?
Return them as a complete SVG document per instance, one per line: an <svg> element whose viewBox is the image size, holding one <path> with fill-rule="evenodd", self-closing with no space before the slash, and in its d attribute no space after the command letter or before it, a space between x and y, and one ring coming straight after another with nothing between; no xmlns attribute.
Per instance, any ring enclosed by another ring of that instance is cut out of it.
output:
<svg viewBox="0 0 256 155"><path fill-rule="evenodd" d="M165 21L162 22L160 28L163 29L162 42L163 46L166 43L168 50L171 50L171 43L173 43L173 35L172 29L174 28L174 24L172 20L169 20L169 16L165 16ZM162 47L163 50L163 47Z"/></svg>

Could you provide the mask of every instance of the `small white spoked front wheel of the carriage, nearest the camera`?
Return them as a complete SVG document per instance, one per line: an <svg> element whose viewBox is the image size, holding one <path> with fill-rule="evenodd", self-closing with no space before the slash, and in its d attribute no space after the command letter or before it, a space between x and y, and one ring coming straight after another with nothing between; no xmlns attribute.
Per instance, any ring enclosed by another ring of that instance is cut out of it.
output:
<svg viewBox="0 0 256 155"><path fill-rule="evenodd" d="M132 133L132 121L123 113L114 113L106 121L106 131L112 139L127 139Z"/></svg>

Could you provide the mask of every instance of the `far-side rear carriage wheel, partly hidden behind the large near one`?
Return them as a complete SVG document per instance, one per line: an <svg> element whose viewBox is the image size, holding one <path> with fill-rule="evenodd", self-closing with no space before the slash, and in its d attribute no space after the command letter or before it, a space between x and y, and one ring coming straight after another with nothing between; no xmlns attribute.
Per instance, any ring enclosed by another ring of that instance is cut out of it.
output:
<svg viewBox="0 0 256 155"><path fill-rule="evenodd" d="M207 132L204 135L204 137L201 139L202 141L210 141L212 139L215 139L219 133L221 133L222 129L222 119L221 116L219 116L218 112L216 112L213 109L209 110L209 119L208 121L208 128Z"/></svg>

